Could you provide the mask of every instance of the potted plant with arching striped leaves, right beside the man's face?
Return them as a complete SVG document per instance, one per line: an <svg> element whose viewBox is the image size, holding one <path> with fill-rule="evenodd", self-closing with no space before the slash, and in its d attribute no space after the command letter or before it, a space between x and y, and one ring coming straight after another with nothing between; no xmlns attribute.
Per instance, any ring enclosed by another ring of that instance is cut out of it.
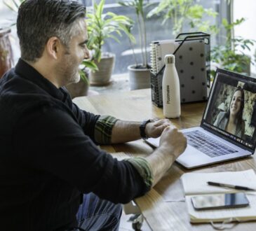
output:
<svg viewBox="0 0 256 231"><path fill-rule="evenodd" d="M93 51L93 60L98 67L98 71L90 73L91 85L109 84L114 66L114 54L102 52L102 45L106 38L113 38L119 42L118 36L121 32L126 34L132 41L134 38L129 32L132 20L124 15L116 15L112 12L103 13L105 0L99 4L93 0L93 10L87 13L88 28L88 48Z"/></svg>

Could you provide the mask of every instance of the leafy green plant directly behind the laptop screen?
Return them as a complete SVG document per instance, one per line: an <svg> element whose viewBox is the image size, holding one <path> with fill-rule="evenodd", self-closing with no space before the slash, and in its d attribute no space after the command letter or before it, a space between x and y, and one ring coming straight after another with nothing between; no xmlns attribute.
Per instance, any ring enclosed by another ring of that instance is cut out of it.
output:
<svg viewBox="0 0 256 231"><path fill-rule="evenodd" d="M223 69L250 75L252 62L250 56L245 55L245 51L250 51L250 47L255 41L240 36L232 36L234 27L241 25L244 21L245 19L241 18L229 24L226 19L222 20L222 26L227 32L226 43L216 45L211 50L211 61Z"/></svg>

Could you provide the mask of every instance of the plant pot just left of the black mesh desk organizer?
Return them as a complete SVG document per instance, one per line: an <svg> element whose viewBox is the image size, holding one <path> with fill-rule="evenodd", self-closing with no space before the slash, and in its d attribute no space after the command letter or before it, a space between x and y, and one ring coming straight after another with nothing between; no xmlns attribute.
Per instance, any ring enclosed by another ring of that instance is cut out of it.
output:
<svg viewBox="0 0 256 231"><path fill-rule="evenodd" d="M135 67L135 65L128 66L130 90L149 88L150 69Z"/></svg>

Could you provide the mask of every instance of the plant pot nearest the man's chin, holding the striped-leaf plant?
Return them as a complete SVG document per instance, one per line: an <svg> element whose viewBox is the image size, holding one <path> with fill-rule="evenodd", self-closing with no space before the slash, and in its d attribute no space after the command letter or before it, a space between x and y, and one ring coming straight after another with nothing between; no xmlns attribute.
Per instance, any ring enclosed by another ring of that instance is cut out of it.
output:
<svg viewBox="0 0 256 231"><path fill-rule="evenodd" d="M102 57L100 62L95 61L99 71L90 72L90 85L104 86L110 83L115 56L111 53L108 53L107 55L108 56Z"/></svg>

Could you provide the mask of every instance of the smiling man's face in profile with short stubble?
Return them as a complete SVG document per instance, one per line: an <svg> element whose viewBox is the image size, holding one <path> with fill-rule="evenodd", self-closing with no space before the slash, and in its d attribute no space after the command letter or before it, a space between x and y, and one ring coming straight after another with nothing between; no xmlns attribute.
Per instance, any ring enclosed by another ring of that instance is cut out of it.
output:
<svg viewBox="0 0 256 231"><path fill-rule="evenodd" d="M60 78L63 80L64 85L79 82L79 65L83 59L89 57L89 51L86 46L86 42L88 41L86 22L80 20L79 24L81 33L72 37L69 42L69 48L63 45L64 52L58 63L58 72L60 73Z"/></svg>

